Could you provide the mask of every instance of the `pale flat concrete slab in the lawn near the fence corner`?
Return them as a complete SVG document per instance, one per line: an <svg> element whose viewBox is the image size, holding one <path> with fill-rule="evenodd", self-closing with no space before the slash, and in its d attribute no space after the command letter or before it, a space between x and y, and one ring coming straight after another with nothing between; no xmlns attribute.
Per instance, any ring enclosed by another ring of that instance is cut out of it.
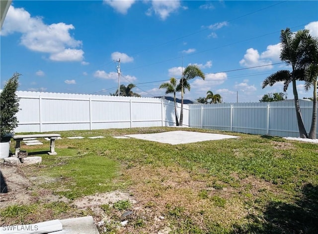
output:
<svg viewBox="0 0 318 234"><path fill-rule="evenodd" d="M132 134L132 135L125 135L125 136L140 139L140 140L160 142L160 143L166 143L171 145L222 140L222 139L229 139L229 138L238 138L236 136L231 136L231 135L215 134L215 133L199 133L199 132L189 132L189 131L171 131L171 132L152 133L152 134Z"/></svg>

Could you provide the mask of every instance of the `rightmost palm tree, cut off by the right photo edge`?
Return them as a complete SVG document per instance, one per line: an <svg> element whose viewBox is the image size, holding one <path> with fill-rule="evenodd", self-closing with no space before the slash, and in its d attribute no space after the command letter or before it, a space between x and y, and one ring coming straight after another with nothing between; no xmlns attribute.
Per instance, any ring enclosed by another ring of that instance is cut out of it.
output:
<svg viewBox="0 0 318 234"><path fill-rule="evenodd" d="M308 134L310 139L316 139L316 128L317 128L317 78L318 78L318 38L309 37L307 41L308 56L312 58L309 66L305 69L305 89L308 89L313 86L313 115L312 115L312 124Z"/></svg>

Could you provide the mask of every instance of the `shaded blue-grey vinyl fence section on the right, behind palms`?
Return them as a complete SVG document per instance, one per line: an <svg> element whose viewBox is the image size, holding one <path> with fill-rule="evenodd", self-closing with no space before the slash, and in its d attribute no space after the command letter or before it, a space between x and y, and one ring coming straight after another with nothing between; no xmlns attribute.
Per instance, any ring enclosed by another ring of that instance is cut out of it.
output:
<svg viewBox="0 0 318 234"><path fill-rule="evenodd" d="M299 100L306 130L313 102ZM189 106L189 126L280 137L299 137L294 100ZM318 126L316 129L318 137Z"/></svg>

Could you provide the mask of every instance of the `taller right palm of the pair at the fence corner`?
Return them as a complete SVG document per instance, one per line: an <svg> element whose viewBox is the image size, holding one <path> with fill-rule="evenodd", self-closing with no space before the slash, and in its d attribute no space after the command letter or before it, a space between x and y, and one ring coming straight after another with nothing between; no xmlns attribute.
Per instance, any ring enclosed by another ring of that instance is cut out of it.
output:
<svg viewBox="0 0 318 234"><path fill-rule="evenodd" d="M177 86L177 91L181 91L181 111L179 121L180 126L182 126L183 124L183 94L185 92L185 89L188 89L190 91L191 86L189 84L189 80L195 77L205 79L205 76L200 68L195 64L190 64L184 69L182 77L180 79L180 83Z"/></svg>

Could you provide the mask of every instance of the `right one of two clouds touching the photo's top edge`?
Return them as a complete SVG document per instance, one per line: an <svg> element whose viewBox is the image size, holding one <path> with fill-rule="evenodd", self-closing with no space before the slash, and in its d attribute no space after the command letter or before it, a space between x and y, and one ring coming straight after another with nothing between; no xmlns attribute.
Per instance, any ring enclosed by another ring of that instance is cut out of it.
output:
<svg viewBox="0 0 318 234"><path fill-rule="evenodd" d="M146 15L151 16L153 12L165 20L172 12L181 7L179 0L153 0L152 7L146 11Z"/></svg>

